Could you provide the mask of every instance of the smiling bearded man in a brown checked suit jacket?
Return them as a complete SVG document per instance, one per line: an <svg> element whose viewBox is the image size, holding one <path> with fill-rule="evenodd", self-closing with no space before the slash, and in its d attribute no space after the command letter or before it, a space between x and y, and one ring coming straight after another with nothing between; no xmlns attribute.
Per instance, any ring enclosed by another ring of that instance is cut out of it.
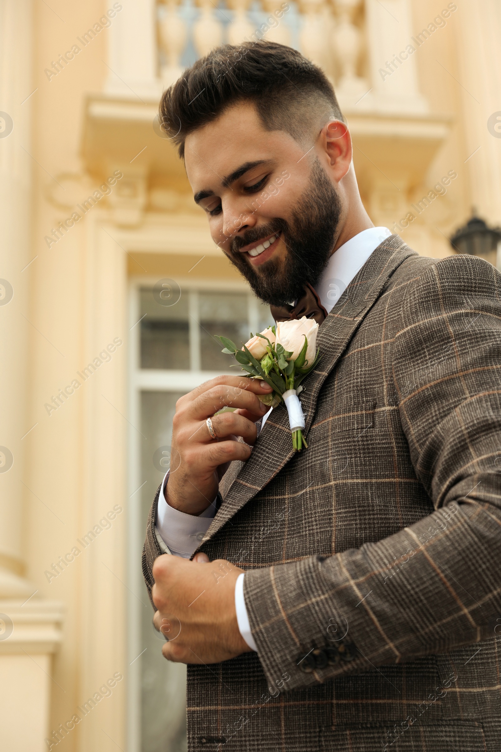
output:
<svg viewBox="0 0 501 752"><path fill-rule="evenodd" d="M499 750L501 276L373 227L333 89L288 47L214 50L161 119L222 252L321 323L300 454L283 406L259 432L263 384L177 403L143 572L189 749Z"/></svg>

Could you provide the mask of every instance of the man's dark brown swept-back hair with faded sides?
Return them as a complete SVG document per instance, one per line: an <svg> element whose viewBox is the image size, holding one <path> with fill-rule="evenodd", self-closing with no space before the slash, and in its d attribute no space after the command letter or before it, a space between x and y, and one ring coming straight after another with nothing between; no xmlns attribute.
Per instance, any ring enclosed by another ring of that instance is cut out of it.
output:
<svg viewBox="0 0 501 752"><path fill-rule="evenodd" d="M198 59L162 95L161 129L184 157L186 136L237 102L255 105L267 130L297 141L318 121L343 120L327 76L297 50L276 42L225 44ZM322 123L323 126L323 123Z"/></svg>

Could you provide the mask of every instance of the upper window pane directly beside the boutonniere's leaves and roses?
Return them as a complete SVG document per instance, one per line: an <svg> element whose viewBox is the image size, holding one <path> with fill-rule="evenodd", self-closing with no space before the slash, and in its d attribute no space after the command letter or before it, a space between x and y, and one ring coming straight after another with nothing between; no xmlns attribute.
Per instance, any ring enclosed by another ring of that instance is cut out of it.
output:
<svg viewBox="0 0 501 752"><path fill-rule="evenodd" d="M247 293L199 293L198 301L201 368L203 371L230 371L235 360L221 352L222 345L214 335L228 337L237 345L249 339Z"/></svg>

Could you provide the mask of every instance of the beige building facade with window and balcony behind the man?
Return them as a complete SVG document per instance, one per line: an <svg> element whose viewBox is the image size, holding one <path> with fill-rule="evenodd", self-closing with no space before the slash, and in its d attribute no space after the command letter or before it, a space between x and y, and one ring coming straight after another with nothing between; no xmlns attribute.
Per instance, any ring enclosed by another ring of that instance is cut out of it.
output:
<svg viewBox="0 0 501 752"><path fill-rule="evenodd" d="M269 320L213 244L158 99L222 41L333 80L361 195L426 256L501 225L496 0L0 4L0 745L177 752L183 666L140 572L176 399ZM499 254L498 254L499 262Z"/></svg>

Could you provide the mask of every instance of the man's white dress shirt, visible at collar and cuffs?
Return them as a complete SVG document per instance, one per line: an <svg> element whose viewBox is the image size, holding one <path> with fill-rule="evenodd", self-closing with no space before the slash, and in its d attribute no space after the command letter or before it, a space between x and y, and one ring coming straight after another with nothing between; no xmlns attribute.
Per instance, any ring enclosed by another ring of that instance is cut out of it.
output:
<svg viewBox="0 0 501 752"><path fill-rule="evenodd" d="M350 238L330 256L327 266L321 274L315 290L324 306L327 314L336 304L337 300L346 290L355 274L362 268L373 250L375 250L385 238L391 235L387 227L370 227ZM261 423L261 431L271 410L264 415ZM200 545L210 523L216 514L216 499L201 514L185 514L165 501L164 487L168 480L168 473L161 484L161 493L158 498L158 509L155 520L155 534L164 553L172 553L174 556L183 556L189 559L192 553ZM242 573L235 584L235 608L237 611L238 629L243 639L252 650L258 650L249 624L246 603L243 597Z"/></svg>

